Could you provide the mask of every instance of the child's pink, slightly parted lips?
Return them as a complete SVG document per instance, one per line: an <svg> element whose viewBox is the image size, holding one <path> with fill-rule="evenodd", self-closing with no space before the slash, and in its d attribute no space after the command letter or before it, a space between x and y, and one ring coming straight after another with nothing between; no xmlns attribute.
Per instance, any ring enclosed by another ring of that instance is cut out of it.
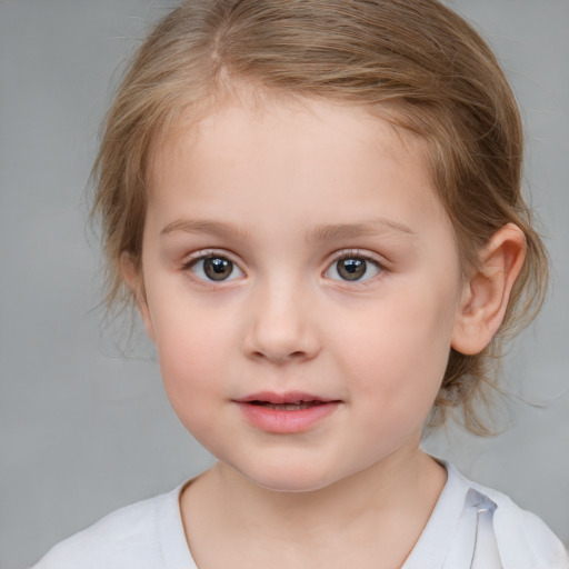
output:
<svg viewBox="0 0 569 569"><path fill-rule="evenodd" d="M282 435L308 430L331 415L340 402L299 391L260 392L236 400L253 427Z"/></svg>

